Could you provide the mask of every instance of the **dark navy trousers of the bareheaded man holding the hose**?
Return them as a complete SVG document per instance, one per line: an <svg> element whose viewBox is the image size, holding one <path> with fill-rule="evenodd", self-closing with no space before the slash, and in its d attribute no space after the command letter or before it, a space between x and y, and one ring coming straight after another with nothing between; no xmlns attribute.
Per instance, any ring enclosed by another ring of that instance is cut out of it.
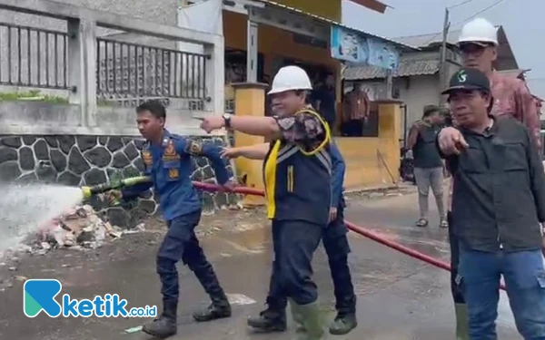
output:
<svg viewBox="0 0 545 340"><path fill-rule="evenodd" d="M163 287L163 301L178 302L179 284L176 263L183 261L201 282L206 293L213 298L223 298L223 288L220 286L213 267L203 253L194 228L201 219L201 210L180 216L168 223L168 231L157 254L157 274Z"/></svg>

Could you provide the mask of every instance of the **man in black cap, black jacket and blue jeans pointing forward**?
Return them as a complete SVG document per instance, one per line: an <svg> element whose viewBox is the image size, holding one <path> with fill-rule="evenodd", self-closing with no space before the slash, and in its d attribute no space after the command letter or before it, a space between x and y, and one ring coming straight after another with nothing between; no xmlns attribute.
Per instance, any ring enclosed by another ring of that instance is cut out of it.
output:
<svg viewBox="0 0 545 340"><path fill-rule="evenodd" d="M497 339L500 276L525 340L545 340L545 173L529 131L490 115L490 81L475 69L451 78L451 112L438 146L453 176L452 230L471 340Z"/></svg>

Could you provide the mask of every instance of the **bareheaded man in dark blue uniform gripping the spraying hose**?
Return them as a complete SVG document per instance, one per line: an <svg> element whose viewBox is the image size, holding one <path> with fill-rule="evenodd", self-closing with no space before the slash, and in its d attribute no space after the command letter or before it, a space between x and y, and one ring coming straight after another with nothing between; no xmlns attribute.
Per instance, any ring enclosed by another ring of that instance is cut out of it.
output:
<svg viewBox="0 0 545 340"><path fill-rule="evenodd" d="M142 151L145 174L153 183L134 186L122 192L114 191L110 196L129 199L154 186L160 199L163 218L168 224L168 231L157 254L157 273L163 285L163 314L154 322L144 325L142 330L149 335L164 338L177 331L179 287L176 263L180 259L193 271L212 299L212 305L194 314L193 318L202 322L231 316L229 301L195 236L194 228L201 219L202 202L191 181L191 157L207 157L220 185L230 187L229 174L219 147L186 139L164 129L166 112L163 104L144 102L136 112L138 130L146 139Z"/></svg>

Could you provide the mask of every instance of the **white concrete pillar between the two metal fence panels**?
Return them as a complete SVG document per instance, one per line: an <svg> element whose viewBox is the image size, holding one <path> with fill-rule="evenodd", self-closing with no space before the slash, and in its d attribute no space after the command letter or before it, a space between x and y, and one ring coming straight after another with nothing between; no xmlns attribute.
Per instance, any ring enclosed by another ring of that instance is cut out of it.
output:
<svg viewBox="0 0 545 340"><path fill-rule="evenodd" d="M96 23L68 20L69 102L79 105L81 124L96 123Z"/></svg>

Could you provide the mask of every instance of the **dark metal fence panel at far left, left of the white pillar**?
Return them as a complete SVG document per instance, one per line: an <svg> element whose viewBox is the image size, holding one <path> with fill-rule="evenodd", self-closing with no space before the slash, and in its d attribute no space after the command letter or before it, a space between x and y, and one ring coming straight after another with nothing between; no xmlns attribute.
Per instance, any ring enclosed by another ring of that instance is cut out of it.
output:
<svg viewBox="0 0 545 340"><path fill-rule="evenodd" d="M0 84L68 88L68 34L0 23Z"/></svg>

